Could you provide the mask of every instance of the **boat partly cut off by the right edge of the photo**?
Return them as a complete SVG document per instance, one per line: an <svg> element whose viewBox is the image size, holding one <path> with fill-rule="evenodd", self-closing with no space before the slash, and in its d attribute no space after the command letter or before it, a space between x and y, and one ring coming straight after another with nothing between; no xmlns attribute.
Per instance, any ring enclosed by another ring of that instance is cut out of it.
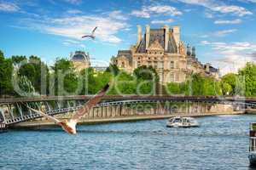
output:
<svg viewBox="0 0 256 170"><path fill-rule="evenodd" d="M250 126L250 147L249 161L251 166L256 166L256 123L251 123Z"/></svg>

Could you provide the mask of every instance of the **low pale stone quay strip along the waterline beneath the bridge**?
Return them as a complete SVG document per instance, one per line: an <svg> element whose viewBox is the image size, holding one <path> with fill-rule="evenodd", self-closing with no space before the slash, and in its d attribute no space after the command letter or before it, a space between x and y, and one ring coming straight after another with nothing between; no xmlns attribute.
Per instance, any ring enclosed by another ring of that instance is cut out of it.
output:
<svg viewBox="0 0 256 170"><path fill-rule="evenodd" d="M79 124L97 124L97 123L111 123L111 122L136 122L143 120L154 120L154 119L167 119L172 116L218 116L218 115L241 115L243 111L232 111L232 112L221 112L221 113L197 113L197 114L172 114L172 115L143 115L143 116L118 116L108 118L94 118L94 119L82 119ZM64 120L64 119L63 119ZM20 122L15 124L14 128L19 127L41 127L41 126L55 126L55 122L49 121L31 121L31 122Z"/></svg>

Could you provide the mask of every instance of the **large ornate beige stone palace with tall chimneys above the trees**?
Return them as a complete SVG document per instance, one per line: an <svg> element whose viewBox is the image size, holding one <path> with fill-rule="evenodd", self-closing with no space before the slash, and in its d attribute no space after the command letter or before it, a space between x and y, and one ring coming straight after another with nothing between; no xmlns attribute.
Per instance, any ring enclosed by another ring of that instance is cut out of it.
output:
<svg viewBox="0 0 256 170"><path fill-rule="evenodd" d="M180 40L179 26L150 29L142 35L137 26L137 43L129 50L119 50L112 59L119 69L132 72L138 66L151 65L160 76L160 82L184 82L192 72L218 79L218 69L203 65L196 58L195 47L186 47Z"/></svg>

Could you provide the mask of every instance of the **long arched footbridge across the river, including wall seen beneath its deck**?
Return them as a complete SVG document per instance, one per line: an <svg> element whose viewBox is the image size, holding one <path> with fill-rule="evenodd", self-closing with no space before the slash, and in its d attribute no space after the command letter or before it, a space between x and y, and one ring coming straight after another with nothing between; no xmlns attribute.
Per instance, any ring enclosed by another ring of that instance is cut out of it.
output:
<svg viewBox="0 0 256 170"><path fill-rule="evenodd" d="M45 111L48 115L67 116L82 108L91 95L41 96L34 98L0 99L0 122L11 126L41 116L26 106ZM256 98L183 95L106 95L85 118L136 116L137 114L207 113L216 107L230 105L234 111L256 108ZM214 110L215 108L215 110ZM221 107L220 107L221 108Z"/></svg>

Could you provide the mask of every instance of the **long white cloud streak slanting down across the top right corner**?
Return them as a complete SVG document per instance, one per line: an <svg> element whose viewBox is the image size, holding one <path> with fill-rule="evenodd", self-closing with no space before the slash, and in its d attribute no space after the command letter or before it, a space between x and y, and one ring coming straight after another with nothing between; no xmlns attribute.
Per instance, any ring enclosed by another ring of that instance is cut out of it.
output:
<svg viewBox="0 0 256 170"><path fill-rule="evenodd" d="M208 8L214 12L222 14L236 14L238 16L250 15L253 14L247 8L243 8L236 5L226 5L224 3L218 3L214 0L177 0L181 3L188 3L192 5L199 5L205 8Z"/></svg>

